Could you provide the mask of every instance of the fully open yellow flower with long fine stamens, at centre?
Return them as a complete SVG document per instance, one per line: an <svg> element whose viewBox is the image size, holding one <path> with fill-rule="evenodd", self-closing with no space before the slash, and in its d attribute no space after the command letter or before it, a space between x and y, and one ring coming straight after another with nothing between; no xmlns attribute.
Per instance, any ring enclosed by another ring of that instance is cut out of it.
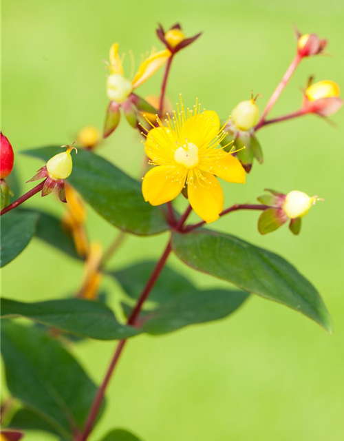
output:
<svg viewBox="0 0 344 441"><path fill-rule="evenodd" d="M189 201L195 212L206 221L219 218L224 194L215 176L232 183L244 183L245 171L232 154L219 144L226 136L216 112L203 110L196 102L193 110L181 102L166 126L147 134L144 150L152 165L143 178L142 194L151 205L172 201L187 185Z"/></svg>

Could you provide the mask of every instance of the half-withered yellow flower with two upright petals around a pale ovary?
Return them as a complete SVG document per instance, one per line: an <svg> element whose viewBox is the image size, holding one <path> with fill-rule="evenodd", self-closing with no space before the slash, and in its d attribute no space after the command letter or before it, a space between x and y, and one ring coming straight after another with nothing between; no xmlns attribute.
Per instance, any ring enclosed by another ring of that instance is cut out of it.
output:
<svg viewBox="0 0 344 441"><path fill-rule="evenodd" d="M141 63L138 72L136 72L131 81L125 77L122 58L118 54L118 43L114 43L109 53L110 75L107 77L107 95L109 99L116 101L116 103L126 101L131 92L144 83L144 81L147 81L166 63L169 57L171 57L171 52L168 49L160 50L160 52L152 51L149 57Z"/></svg>

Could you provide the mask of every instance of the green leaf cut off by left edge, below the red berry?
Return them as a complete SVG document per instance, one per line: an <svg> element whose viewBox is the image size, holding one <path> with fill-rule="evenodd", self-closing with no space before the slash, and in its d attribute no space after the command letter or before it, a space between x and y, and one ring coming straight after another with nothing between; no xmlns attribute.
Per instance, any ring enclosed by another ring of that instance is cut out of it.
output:
<svg viewBox="0 0 344 441"><path fill-rule="evenodd" d="M28 245L36 230L39 215L15 210L1 216L0 267L16 258Z"/></svg>

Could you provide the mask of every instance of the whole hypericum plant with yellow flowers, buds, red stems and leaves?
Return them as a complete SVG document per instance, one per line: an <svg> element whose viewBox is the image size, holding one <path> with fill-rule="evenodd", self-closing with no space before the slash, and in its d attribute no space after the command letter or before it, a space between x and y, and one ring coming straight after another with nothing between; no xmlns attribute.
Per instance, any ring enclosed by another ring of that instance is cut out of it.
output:
<svg viewBox="0 0 344 441"><path fill-rule="evenodd" d="M10 203L10 189L4 178L12 171L14 156L10 142L0 134L0 215L5 215L1 218L1 266L17 257L32 236L85 265L80 288L72 298L29 303L1 298L4 319L1 349L11 394L1 408L1 441L19 440L26 430L32 429L50 432L60 440L89 440L104 409L107 385L129 338L139 334L166 334L195 323L227 317L250 294L287 305L332 331L323 300L290 263L226 232L204 228L206 223L213 223L231 212L257 210L261 234L270 233L287 221L291 232L299 234L301 218L319 200L317 196L308 196L299 190L286 189L284 194L270 189L258 197L259 203L237 203L224 208L222 185L245 183L254 159L263 162L257 140L257 132L263 127L312 113L327 118L341 107L336 83L310 80L299 110L268 119L297 65L305 57L323 52L326 41L316 34L297 32L294 60L261 116L258 96L252 95L233 108L231 117L225 115L220 120L215 110L204 110L197 100L195 105L186 107L180 98L175 110L166 112L170 106L165 92L173 58L200 34L186 38L180 25L166 32L160 26L157 34L166 48L151 52L132 79L123 69L118 43L111 46L108 64L110 103L103 135L107 137L114 132L122 109L144 143L142 181L134 180L95 154L94 150L100 147L99 132L95 127L85 127L78 134L80 149L73 172L73 144L61 153L57 153L58 147L26 152L45 161L30 180L43 181ZM160 96L142 99L136 94L138 86L163 65ZM154 103L158 103L158 109ZM225 182L220 185L218 178ZM43 211L16 209L34 194L41 192L45 196L55 188L61 201L67 202L62 219ZM175 198L185 199L186 209L182 214L173 207ZM105 252L98 242L89 243L84 201L120 229ZM193 210L200 221L191 224L188 219ZM162 232L169 232L169 239L158 262L149 260L116 270L107 268L109 257L120 247L126 234L149 236ZM171 253L185 265L226 280L237 289L198 289L175 269L166 266ZM104 276L116 278L125 293L120 296L120 317L106 305L106 296L100 294ZM153 302L147 304L148 297ZM121 319L123 316L127 317L125 322ZM16 317L27 318L35 324L24 326L12 320ZM118 340L99 387L69 353L69 345L85 338ZM120 429L112 430L103 438L103 441L121 440L138 441L138 438Z"/></svg>

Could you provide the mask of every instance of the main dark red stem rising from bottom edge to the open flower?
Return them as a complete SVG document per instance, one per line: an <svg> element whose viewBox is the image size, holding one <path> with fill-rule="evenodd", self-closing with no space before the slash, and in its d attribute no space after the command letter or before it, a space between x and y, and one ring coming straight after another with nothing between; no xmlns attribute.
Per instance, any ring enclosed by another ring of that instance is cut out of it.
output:
<svg viewBox="0 0 344 441"><path fill-rule="evenodd" d="M182 229L182 226L184 225L184 222L186 218L191 213L192 208L188 207L186 209L186 212L183 214L183 216L178 220L178 224L175 226L176 229ZM134 307L133 311L131 311L131 314L127 320L127 325L135 325L136 319L138 318L140 311L142 309L142 305L144 304L145 300L147 300L151 289L155 285L156 280L158 280L158 277L160 276L160 273L162 269L164 268L164 265L166 263L167 258L169 257L171 253L171 239L169 240L169 243L167 244L164 253L160 257L160 260L155 266L155 269L153 273L151 274L147 285L144 287L142 294L140 295L140 298L138 299L138 302L136 303L136 306ZM114 353L114 356L110 362L110 365L107 369L107 373L105 374L105 377L103 379L102 384L100 385L96 397L94 398L94 402L92 404L91 410L89 411L89 415L87 416L85 428L83 430L83 433L80 433L76 435L76 441L86 441L89 433L91 433L92 428L94 426L94 422L96 420L96 417L98 415L98 411L100 409L100 406L103 402L103 398L105 395L105 390L107 389L107 386L111 380L111 376L114 373L114 370L117 366L118 360L120 358L120 355L125 347L127 340L120 340L116 347L116 351Z"/></svg>

